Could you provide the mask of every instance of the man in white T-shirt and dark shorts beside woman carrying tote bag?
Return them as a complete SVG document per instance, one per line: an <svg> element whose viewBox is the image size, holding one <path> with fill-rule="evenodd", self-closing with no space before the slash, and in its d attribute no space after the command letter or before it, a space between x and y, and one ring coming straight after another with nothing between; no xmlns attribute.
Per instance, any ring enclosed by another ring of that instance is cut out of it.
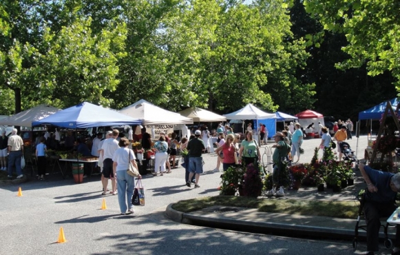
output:
<svg viewBox="0 0 400 255"><path fill-rule="evenodd" d="M119 149L118 141L116 141L116 138L119 135L118 130L112 130L111 138L105 139L103 142L103 145L101 146L101 154L103 154L103 193L102 195L105 195L107 192L107 185L108 185L108 179L111 178L111 185L112 185L112 191L110 194L116 195L116 181L115 181L115 173L112 168L113 161L112 157L114 156L114 152Z"/></svg>

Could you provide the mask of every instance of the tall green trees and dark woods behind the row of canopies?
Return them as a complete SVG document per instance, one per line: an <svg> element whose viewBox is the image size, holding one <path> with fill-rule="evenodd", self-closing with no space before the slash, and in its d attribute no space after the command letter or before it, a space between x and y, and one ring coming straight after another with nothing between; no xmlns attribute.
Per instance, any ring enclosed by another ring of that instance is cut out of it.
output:
<svg viewBox="0 0 400 255"><path fill-rule="evenodd" d="M81 101L120 109L146 99L176 111L254 103L357 119L396 96L388 61L377 68L364 55L356 65L355 51L342 50L352 41L320 15L337 6L309 0L309 14L300 0L242 2L2 1L0 113Z"/></svg>

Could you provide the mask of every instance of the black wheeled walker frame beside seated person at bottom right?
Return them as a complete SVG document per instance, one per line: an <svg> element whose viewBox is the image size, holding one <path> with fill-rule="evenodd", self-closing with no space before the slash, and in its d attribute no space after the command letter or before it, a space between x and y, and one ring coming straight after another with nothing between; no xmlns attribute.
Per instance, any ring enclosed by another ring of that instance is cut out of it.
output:
<svg viewBox="0 0 400 255"><path fill-rule="evenodd" d="M368 190L361 190L355 197L355 199L357 199L357 201L359 201L359 210L358 210L358 216L357 216L357 223L355 224L355 231L354 231L355 236L354 236L354 239L352 240L352 247L354 250L357 249L357 245L358 245L359 229L367 231L366 225L360 225L360 218L365 218L364 203L366 200L367 192L368 192ZM385 218L385 221L386 221L386 218ZM383 227L383 233L385 234L385 240L383 241L383 245L385 246L386 249L392 249L392 246L393 246L392 240L390 240L390 238L388 236L388 227L390 227L390 226L392 226L392 225L390 225L389 223L386 223L385 225L381 224L381 227Z"/></svg>

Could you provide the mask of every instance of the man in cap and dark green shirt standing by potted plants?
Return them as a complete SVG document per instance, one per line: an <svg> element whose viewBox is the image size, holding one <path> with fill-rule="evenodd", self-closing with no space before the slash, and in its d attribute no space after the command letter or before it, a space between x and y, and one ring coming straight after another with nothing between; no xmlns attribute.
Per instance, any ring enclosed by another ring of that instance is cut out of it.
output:
<svg viewBox="0 0 400 255"><path fill-rule="evenodd" d="M284 141L284 134L282 132L277 132L274 136L272 136L275 144L272 145L275 148L272 159L273 159L273 173L272 173L272 181L273 187L267 193L267 196L284 196L284 187L280 183L280 176L282 175L281 171L284 171L284 166L282 165L282 161L286 159L288 156L288 152L290 152L291 147Z"/></svg>

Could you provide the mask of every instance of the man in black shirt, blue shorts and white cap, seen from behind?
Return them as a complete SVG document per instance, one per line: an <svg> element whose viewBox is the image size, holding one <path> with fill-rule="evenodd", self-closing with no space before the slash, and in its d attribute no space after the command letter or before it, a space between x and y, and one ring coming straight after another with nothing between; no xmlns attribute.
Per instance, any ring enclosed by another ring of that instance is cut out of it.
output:
<svg viewBox="0 0 400 255"><path fill-rule="evenodd" d="M202 139L200 139L201 134L202 132L200 130L196 130L196 132L194 132L195 138L191 139L186 147L186 149L189 150L189 180L196 174L196 184L194 187L200 187L200 185L198 185L198 180L200 179L200 174L203 173L202 152L206 150L206 147ZM187 181L186 185L190 187L190 181Z"/></svg>

